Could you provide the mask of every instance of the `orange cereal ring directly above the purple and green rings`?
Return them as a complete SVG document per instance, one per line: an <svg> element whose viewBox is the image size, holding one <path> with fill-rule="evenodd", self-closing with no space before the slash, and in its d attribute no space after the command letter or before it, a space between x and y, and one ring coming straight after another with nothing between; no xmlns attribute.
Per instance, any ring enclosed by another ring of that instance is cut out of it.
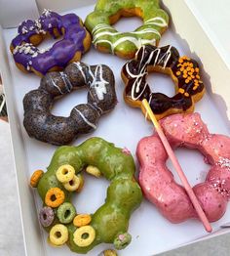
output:
<svg viewBox="0 0 230 256"><path fill-rule="evenodd" d="M62 192L59 188L51 188L45 196L46 205L56 208L61 203L64 202L64 192Z"/></svg>

